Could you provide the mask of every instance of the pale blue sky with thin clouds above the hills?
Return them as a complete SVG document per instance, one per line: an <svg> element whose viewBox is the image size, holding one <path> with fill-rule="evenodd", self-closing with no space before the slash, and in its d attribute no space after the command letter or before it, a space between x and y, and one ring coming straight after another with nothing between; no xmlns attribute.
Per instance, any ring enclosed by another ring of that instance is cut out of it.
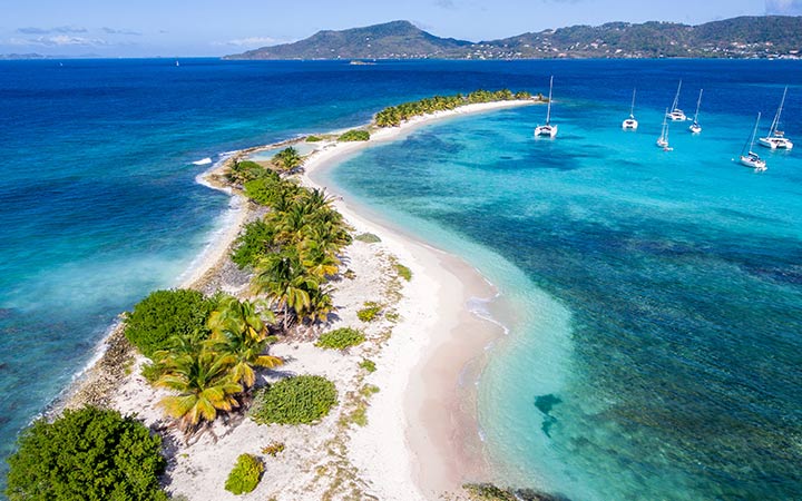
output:
<svg viewBox="0 0 802 501"><path fill-rule="evenodd" d="M609 21L800 16L802 0L0 0L0 53L193 57L399 19L480 41Z"/></svg>

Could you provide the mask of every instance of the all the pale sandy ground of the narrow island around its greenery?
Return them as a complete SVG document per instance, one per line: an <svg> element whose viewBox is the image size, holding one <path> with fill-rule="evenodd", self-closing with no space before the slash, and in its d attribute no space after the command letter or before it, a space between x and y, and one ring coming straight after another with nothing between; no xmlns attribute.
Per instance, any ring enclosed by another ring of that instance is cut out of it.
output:
<svg viewBox="0 0 802 501"><path fill-rule="evenodd" d="M468 105L413 118L400 127L372 129L369 141L321 145L306 158L302 183L319 187L316 175L322 169L362 148L398 139L422 124L532 102ZM250 277L236 268L228 254L242 226L261 217L264 209L221 179L232 161L266 148L238 151L203 175L204 184L232 195L232 210L215 242L185 274L182 286L247 295ZM480 370L483 347L501 333L467 306L471 298L492 297L495 289L462 259L387 224L369 220L342 197L334 205L355 234L372 233L381 242L354 240L345 249L343 268L353 272L352 278L333 283L339 320L322 328L359 327L368 341L344 353L317 348L312 341L281 342L271 353L284 357L286 364L263 375L263 381L291 374L320 374L332 380L340 403L322 422L265 426L242 416L227 423L217 420L212 433L187 444L167 428L168 421L157 406L166 393L139 375L143 357L127 345L119 327L111 331L102 355L74 385L62 406L91 403L136 413L165 438L167 491L190 500L413 501L443 499L444 494L458 499L462 483L486 480L472 389L461 387L459 381L463 371L475 374ZM411 281L398 275L398 263L412 271ZM365 301L385 305L379 321L362 323L356 318L356 310ZM364 358L375 362L374 373L360 369ZM360 390L368 384L379 392L366 396ZM360 412L366 418L365 425L353 419ZM275 458L262 453L262 448L272 442L283 442L286 449ZM242 453L263 459L265 473L254 492L235 497L224 490L224 484Z"/></svg>

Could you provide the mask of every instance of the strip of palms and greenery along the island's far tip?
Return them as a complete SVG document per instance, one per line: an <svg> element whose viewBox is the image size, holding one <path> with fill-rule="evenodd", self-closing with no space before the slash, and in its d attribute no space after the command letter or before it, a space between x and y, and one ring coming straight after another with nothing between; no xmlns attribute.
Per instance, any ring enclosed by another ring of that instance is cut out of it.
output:
<svg viewBox="0 0 802 501"><path fill-rule="evenodd" d="M456 109L460 106L530 98L531 95L529 92L520 91L514 94L509 89L496 91L475 90L468 95L456 94L453 96L434 96L384 108L376 114L375 124L379 127L398 127L401 122L409 120L410 118L433 114L436 111Z"/></svg>

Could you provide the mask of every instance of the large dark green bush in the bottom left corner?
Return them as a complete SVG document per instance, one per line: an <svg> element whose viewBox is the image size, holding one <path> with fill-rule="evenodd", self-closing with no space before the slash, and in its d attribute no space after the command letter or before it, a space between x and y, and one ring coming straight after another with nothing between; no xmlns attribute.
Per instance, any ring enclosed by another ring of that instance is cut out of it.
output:
<svg viewBox="0 0 802 501"><path fill-rule="evenodd" d="M131 416L85 407L39 420L9 458L9 500L166 501L162 439Z"/></svg>

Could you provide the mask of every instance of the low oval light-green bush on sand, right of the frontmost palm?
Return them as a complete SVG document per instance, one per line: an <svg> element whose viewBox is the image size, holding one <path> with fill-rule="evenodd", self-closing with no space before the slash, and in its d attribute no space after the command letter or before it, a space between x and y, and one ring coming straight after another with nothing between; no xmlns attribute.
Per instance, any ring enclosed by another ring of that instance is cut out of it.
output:
<svg viewBox="0 0 802 501"><path fill-rule="evenodd" d="M251 419L260 424L309 424L329 414L336 402L334 383L322 376L301 375L256 392Z"/></svg>

